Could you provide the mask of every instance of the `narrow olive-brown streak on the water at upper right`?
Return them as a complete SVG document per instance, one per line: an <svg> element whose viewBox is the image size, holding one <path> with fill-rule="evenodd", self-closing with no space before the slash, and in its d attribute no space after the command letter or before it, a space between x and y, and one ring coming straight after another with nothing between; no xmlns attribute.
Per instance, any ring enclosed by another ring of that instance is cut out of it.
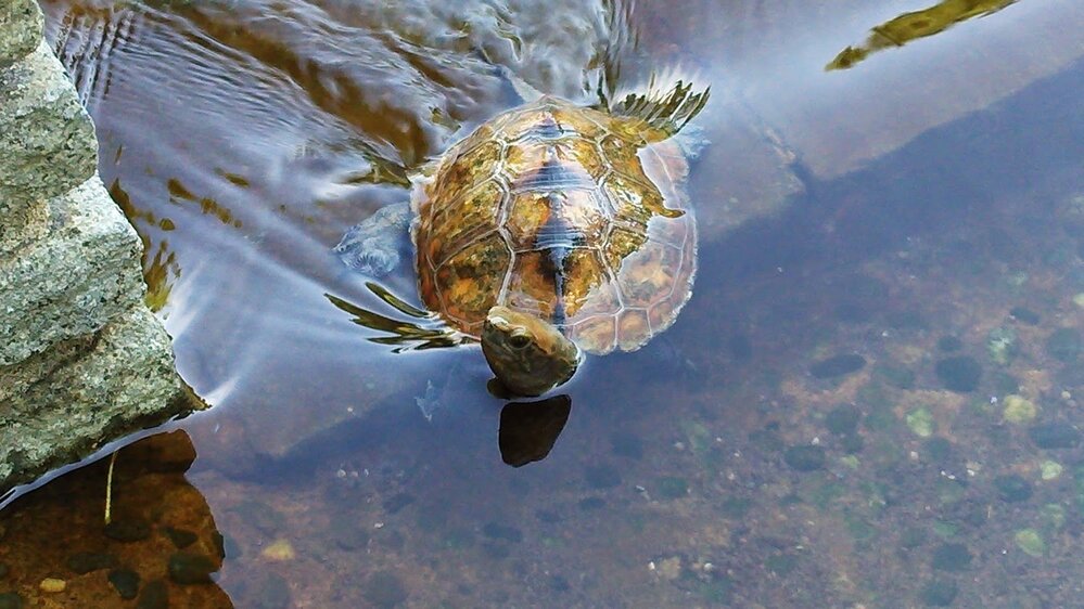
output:
<svg viewBox="0 0 1084 609"><path fill-rule="evenodd" d="M974 17L992 15L1018 0L944 0L943 2L904 13L869 31L865 44L847 47L825 66L826 70L849 69L882 49L903 47L913 40L940 34Z"/></svg>

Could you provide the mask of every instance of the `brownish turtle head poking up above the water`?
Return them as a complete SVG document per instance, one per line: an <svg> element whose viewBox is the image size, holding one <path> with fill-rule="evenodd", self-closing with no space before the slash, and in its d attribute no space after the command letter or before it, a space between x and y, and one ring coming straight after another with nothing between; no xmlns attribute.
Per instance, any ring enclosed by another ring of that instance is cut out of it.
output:
<svg viewBox="0 0 1084 609"><path fill-rule="evenodd" d="M540 396L572 378L579 348L552 324L494 307L482 327L482 352L505 387L520 396Z"/></svg>

